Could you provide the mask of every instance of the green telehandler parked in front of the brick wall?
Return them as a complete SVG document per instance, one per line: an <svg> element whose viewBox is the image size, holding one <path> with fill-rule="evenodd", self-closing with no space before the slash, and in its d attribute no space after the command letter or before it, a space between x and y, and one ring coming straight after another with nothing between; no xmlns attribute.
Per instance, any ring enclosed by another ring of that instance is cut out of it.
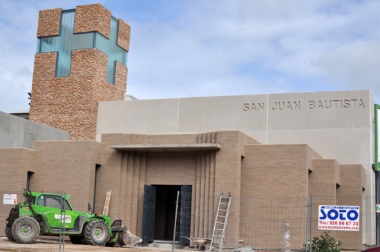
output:
<svg viewBox="0 0 380 252"><path fill-rule="evenodd" d="M125 245L126 227L121 220L111 224L106 215L73 211L68 202L70 195L25 191L23 196L25 202L13 207L6 219L10 241L32 243L39 235L60 235L64 231L73 244Z"/></svg>

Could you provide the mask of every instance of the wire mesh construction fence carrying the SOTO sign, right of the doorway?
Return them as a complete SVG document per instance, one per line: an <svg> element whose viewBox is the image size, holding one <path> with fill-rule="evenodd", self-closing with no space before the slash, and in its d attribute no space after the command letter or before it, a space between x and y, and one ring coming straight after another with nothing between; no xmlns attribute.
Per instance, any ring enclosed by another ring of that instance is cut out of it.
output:
<svg viewBox="0 0 380 252"><path fill-rule="evenodd" d="M215 214L196 215L193 214L197 211L190 202L191 195L178 193L173 250L210 249L211 242L216 239L213 234L218 229L215 226L218 197L214 197ZM327 231L328 235L336 242L341 241L342 249L360 251L363 244L375 244L375 206L374 197L310 195L253 199L232 195L222 249L213 244L212 251L312 251L313 238L332 228L335 230ZM327 219L320 223L323 217ZM187 232L184 232L184 226L188 227Z"/></svg>

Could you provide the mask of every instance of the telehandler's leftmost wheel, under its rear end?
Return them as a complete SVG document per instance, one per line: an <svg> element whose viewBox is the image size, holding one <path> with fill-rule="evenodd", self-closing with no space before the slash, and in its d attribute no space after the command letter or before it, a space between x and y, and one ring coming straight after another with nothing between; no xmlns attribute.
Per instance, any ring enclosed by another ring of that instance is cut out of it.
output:
<svg viewBox="0 0 380 252"><path fill-rule="evenodd" d="M39 235L39 224L30 216L20 217L12 225L12 237L19 243L35 242Z"/></svg>

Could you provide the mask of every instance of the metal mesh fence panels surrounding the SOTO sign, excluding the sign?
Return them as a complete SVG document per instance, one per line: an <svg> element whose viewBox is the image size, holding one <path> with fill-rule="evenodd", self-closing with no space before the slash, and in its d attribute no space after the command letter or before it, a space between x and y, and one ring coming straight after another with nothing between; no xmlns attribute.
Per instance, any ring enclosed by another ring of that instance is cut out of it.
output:
<svg viewBox="0 0 380 252"><path fill-rule="evenodd" d="M180 195L181 197L181 195ZM186 197L183 195L183 197ZM175 247L192 251L194 249L209 249L203 245L202 239L211 239L215 212L219 195L214 199L213 212L202 207L189 205L184 211L178 206ZM194 200L194 199L193 199ZM314 237L323 233L318 229L319 206L360 206L359 231L330 231L330 236L341 240L342 249L360 250L366 241L374 240L376 233L373 221L374 197L336 197L335 195L314 196L287 199L252 199L232 197L227 233L223 251L312 251L311 242ZM211 209L211 208L209 208ZM186 213L186 216L182 216ZM191 216L189 217L189 213ZM183 222L191 226L188 245L178 244L180 229ZM201 240L191 240L200 238ZM240 248L240 249L239 249ZM242 250L243 249L243 250Z"/></svg>

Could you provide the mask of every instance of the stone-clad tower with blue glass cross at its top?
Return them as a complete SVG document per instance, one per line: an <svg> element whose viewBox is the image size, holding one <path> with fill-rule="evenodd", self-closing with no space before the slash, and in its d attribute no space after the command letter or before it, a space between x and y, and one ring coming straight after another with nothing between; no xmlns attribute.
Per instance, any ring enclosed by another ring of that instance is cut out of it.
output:
<svg viewBox="0 0 380 252"><path fill-rule="evenodd" d="M124 99L130 32L99 3L41 10L30 120L94 140L98 102Z"/></svg>

